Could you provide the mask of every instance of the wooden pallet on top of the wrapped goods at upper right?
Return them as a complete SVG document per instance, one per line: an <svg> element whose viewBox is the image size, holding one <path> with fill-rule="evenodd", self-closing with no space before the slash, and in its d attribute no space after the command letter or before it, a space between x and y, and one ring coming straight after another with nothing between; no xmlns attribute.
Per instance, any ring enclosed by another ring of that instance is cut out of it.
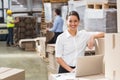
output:
<svg viewBox="0 0 120 80"><path fill-rule="evenodd" d="M115 9L117 9L117 5L116 4L105 4L105 3L88 3L87 8L91 8L91 9L115 8Z"/></svg>

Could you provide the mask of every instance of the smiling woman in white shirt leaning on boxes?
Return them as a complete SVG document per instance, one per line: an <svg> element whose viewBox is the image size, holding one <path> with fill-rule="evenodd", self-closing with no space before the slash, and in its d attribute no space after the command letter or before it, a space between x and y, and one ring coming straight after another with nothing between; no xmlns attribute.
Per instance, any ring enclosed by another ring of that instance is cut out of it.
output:
<svg viewBox="0 0 120 80"><path fill-rule="evenodd" d="M67 30L60 34L55 44L55 57L60 65L58 73L74 72L77 57L84 56L85 49L92 49L96 38L104 37L104 32L78 31L80 18L76 11L66 17Z"/></svg>

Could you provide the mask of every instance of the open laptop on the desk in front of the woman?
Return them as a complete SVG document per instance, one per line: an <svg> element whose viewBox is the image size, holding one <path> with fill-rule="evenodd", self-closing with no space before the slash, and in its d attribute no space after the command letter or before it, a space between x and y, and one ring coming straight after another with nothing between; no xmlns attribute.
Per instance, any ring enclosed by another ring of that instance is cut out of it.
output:
<svg viewBox="0 0 120 80"><path fill-rule="evenodd" d="M102 73L103 55L82 56L77 59L76 77Z"/></svg>

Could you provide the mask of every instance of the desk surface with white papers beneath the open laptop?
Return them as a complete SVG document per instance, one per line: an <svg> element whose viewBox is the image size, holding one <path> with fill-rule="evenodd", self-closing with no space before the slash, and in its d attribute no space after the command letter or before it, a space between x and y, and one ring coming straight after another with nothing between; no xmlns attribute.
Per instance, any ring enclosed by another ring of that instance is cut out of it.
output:
<svg viewBox="0 0 120 80"><path fill-rule="evenodd" d="M49 80L109 80L109 79L106 79L104 74L75 77L75 73L63 73L63 74L50 74Z"/></svg>

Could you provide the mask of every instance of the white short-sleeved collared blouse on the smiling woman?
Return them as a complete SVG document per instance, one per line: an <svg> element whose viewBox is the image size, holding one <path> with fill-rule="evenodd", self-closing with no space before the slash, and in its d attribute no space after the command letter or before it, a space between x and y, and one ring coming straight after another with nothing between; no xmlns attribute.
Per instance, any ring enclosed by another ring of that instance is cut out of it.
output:
<svg viewBox="0 0 120 80"><path fill-rule="evenodd" d="M66 30L57 38L55 56L61 57L69 66L75 66L77 57L84 56L90 36L97 33L81 30L73 37Z"/></svg>

